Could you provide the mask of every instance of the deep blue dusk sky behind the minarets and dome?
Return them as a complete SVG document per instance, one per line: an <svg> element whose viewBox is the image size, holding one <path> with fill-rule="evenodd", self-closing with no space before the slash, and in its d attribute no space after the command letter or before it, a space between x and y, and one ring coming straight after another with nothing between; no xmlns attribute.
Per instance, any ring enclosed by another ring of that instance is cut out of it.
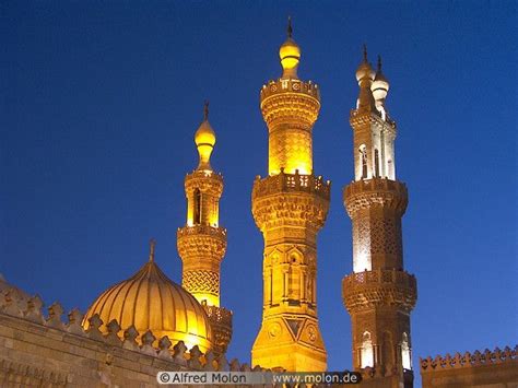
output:
<svg viewBox="0 0 518 388"><path fill-rule="evenodd" d="M419 356L517 340L516 8L509 1L7 1L1 8L0 272L49 305L83 311L129 278L157 239L180 281L176 228L205 98L225 177L222 304L228 358L249 361L261 321L262 236L250 212L267 174L259 90L279 78L286 16L320 85L315 172L332 181L318 240L329 369L351 367L341 279L352 271L342 187L353 177L349 111L366 43L384 58L410 204L404 266L417 277Z"/></svg>

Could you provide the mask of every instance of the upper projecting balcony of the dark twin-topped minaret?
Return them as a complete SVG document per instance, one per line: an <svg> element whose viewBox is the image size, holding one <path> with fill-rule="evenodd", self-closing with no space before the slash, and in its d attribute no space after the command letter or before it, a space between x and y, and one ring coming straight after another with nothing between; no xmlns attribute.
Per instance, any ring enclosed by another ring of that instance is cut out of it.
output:
<svg viewBox="0 0 518 388"><path fill-rule="evenodd" d="M409 195L407 186L398 180L362 179L345 186L343 202L351 217L354 217L360 210L376 208L390 209L401 216L407 210Z"/></svg>

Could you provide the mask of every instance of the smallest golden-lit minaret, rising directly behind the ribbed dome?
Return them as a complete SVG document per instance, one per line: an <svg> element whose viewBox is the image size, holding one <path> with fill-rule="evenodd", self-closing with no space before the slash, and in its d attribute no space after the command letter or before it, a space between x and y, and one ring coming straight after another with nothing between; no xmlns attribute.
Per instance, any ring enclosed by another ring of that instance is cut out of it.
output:
<svg viewBox="0 0 518 388"><path fill-rule="evenodd" d="M226 230L219 225L223 176L214 173L210 164L215 133L209 122L209 103L195 143L200 163L185 178L187 225L177 232L181 285L205 308L215 334L213 351L221 354L232 338L232 311L220 307L220 267L226 251Z"/></svg>

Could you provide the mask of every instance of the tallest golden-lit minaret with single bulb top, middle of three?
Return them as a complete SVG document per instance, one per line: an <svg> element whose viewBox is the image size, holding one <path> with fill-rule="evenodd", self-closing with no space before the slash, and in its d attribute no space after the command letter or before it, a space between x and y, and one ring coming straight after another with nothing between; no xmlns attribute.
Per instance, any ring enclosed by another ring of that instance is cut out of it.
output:
<svg viewBox="0 0 518 388"><path fill-rule="evenodd" d="M283 74L260 92L269 132L269 176L257 177L252 214L264 237L262 325L254 365L326 371L317 318L317 233L329 209L330 183L313 174L311 131L320 93L297 77L301 49L292 38L280 49Z"/></svg>

